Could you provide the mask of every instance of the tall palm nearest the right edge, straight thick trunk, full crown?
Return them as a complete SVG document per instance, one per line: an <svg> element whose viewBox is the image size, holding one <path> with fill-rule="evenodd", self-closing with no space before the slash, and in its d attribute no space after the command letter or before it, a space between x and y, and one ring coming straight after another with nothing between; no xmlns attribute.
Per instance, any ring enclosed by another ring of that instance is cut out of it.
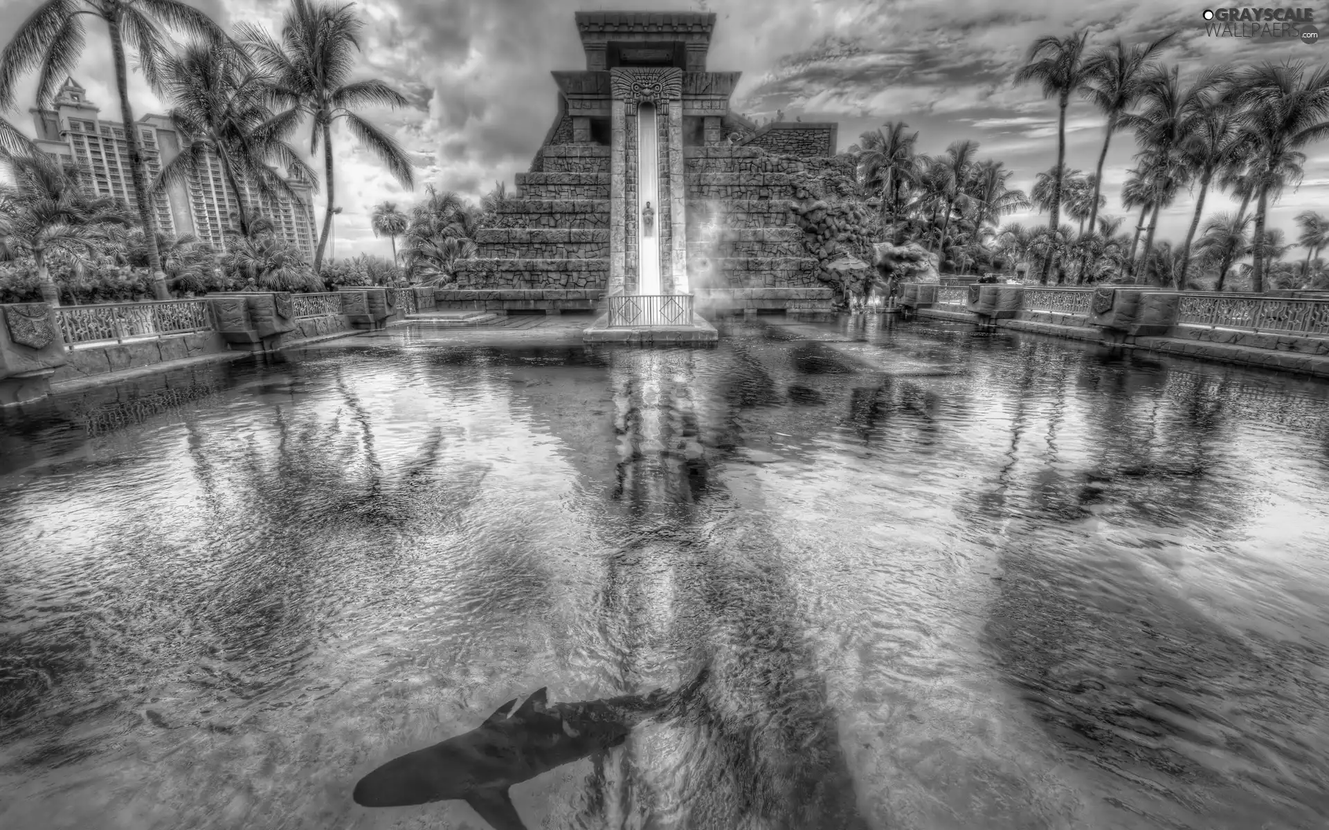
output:
<svg viewBox="0 0 1329 830"><path fill-rule="evenodd" d="M1247 66L1232 86L1243 112L1243 127L1255 143L1252 175L1256 186L1255 262L1251 290L1264 292L1264 226L1269 198L1297 181L1305 155L1301 147L1329 137L1329 66L1308 72L1304 62Z"/></svg>

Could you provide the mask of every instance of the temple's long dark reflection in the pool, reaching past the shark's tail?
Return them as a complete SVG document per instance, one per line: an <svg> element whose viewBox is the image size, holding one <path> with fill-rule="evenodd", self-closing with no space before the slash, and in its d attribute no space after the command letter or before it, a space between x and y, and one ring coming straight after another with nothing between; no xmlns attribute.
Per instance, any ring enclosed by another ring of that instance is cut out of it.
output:
<svg viewBox="0 0 1329 830"><path fill-rule="evenodd" d="M686 718L595 765L577 826L637 813L653 826L867 827L780 546L712 471L742 408L723 389L752 380L742 369L702 378L687 349L611 355L619 519L606 531L623 544L601 614L615 681L700 661L712 675Z"/></svg>

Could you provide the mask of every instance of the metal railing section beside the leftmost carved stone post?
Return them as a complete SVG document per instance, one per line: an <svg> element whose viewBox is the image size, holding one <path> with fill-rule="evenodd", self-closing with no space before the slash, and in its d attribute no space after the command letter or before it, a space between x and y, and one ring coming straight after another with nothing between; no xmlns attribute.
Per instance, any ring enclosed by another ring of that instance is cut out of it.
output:
<svg viewBox="0 0 1329 830"><path fill-rule="evenodd" d="M61 305L56 319L69 348L213 331L207 300Z"/></svg>

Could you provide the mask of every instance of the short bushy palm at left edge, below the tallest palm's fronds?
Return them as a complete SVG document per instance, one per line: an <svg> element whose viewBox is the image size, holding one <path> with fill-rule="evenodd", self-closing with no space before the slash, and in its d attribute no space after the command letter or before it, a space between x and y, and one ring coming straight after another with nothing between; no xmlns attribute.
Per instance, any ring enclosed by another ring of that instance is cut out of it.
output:
<svg viewBox="0 0 1329 830"><path fill-rule="evenodd" d="M106 226L128 224L129 216L114 199L89 199L77 166L58 169L45 157L9 155L3 159L13 179L0 186L0 248L32 256L41 300L60 305L60 290L51 276L48 255L90 256L106 243Z"/></svg>

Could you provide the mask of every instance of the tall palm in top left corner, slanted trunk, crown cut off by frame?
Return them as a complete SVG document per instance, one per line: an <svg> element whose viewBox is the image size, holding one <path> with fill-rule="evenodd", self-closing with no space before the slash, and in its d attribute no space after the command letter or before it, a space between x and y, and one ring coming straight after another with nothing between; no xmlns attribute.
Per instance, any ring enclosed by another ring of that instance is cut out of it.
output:
<svg viewBox="0 0 1329 830"><path fill-rule="evenodd" d="M153 272L157 299L165 300L170 293L153 232L157 223L148 201L144 151L134 129L134 110L129 105L125 46L137 52L144 76L152 82L166 52L158 25L205 39L225 35L207 15L181 0L45 0L23 21L0 52L0 110L13 108L19 78L37 68L41 70L37 80L37 106L49 106L56 85L78 65L86 35L84 15L106 21L110 33L120 117L125 122L125 143L129 146L129 175L134 185L138 220L149 232L148 267Z"/></svg>

